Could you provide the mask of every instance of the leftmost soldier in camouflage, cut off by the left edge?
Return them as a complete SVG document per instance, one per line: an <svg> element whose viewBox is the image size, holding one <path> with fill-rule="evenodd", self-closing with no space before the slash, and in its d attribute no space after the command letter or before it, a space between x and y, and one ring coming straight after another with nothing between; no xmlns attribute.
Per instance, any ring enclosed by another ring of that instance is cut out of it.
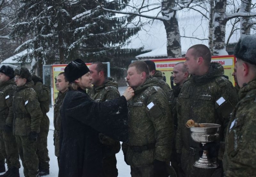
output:
<svg viewBox="0 0 256 177"><path fill-rule="evenodd" d="M0 68L0 139L1 151L6 152L8 171L0 177L19 177L19 153L15 136L12 133L13 110L12 97L16 91L13 80L14 70L10 66L3 65Z"/></svg>

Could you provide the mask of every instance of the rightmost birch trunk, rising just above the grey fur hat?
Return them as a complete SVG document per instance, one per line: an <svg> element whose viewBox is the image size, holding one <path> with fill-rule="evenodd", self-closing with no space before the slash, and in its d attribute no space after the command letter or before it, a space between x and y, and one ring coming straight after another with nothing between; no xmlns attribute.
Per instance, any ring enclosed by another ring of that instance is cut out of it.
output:
<svg viewBox="0 0 256 177"><path fill-rule="evenodd" d="M240 12L250 12L252 0L241 0ZM240 17L240 35L250 34L251 23L248 23L250 17Z"/></svg>

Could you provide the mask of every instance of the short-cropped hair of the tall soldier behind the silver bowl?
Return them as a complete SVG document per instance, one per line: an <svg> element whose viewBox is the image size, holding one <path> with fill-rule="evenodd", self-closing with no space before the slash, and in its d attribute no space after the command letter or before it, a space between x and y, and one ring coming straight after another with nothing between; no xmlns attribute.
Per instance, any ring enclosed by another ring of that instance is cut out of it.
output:
<svg viewBox="0 0 256 177"><path fill-rule="evenodd" d="M194 49L192 51L192 55L195 57L202 57L204 59L204 63L209 66L212 60L210 49L204 44L196 44L191 46L189 49ZM189 50L188 49L188 50Z"/></svg>

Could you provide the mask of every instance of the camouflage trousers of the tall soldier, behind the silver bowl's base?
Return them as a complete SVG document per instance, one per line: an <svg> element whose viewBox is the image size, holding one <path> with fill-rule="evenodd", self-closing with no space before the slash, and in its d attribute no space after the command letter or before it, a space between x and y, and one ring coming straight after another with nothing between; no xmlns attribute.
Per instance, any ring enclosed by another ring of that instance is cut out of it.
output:
<svg viewBox="0 0 256 177"><path fill-rule="evenodd" d="M183 174L179 173L180 177L222 177L222 165L219 168L197 168L194 166L196 160L199 159L198 152L195 155L189 152L189 149L182 148L181 153L181 168Z"/></svg>

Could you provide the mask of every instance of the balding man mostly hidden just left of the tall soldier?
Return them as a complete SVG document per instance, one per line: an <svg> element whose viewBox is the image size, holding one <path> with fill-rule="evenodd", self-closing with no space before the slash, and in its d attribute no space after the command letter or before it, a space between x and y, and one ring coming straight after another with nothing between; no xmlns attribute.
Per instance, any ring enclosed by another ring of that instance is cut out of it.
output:
<svg viewBox="0 0 256 177"><path fill-rule="evenodd" d="M177 117L177 110L176 110L176 103L177 103L177 97L180 94L181 87L183 86L183 83L185 80L189 77L188 70L186 69L186 66L184 65L184 62L177 63L173 68L173 78L175 86L172 88L171 91L171 113L174 120L174 129L175 133L177 131L178 126L178 117ZM179 176L178 171L178 162L177 162L177 154L175 151L175 146L173 146L172 149L172 155L171 155L171 165L176 171L177 177Z"/></svg>

